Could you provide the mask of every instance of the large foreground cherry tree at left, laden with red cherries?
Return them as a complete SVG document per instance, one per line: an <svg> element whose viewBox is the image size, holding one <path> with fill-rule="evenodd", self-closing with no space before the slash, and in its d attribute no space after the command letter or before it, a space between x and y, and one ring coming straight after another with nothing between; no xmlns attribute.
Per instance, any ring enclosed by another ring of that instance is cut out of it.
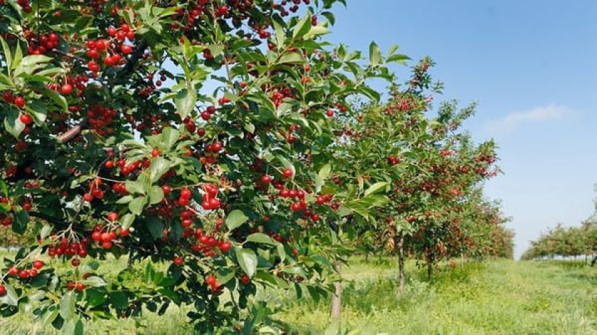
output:
<svg viewBox="0 0 597 335"><path fill-rule="evenodd" d="M0 215L37 241L6 260L0 314L80 333L187 304L198 332L251 333L256 285L321 295L330 223L360 204L326 186L327 114L399 60L323 42L336 2L2 1ZM101 275L124 255L144 268Z"/></svg>

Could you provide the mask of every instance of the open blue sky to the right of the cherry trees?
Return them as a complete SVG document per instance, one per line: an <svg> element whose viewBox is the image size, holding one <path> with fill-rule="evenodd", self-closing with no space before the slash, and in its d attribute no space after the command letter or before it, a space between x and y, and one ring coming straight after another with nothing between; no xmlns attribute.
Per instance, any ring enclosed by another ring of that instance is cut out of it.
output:
<svg viewBox="0 0 597 335"><path fill-rule="evenodd" d="M478 101L466 128L495 138L505 174L486 194L513 217L516 253L593 212L597 182L597 1L348 0L335 43L429 55L444 98Z"/></svg>

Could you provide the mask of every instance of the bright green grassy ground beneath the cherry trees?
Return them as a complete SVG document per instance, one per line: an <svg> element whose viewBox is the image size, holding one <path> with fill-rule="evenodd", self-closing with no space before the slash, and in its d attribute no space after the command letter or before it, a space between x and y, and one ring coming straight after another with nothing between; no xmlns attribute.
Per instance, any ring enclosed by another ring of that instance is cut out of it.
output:
<svg viewBox="0 0 597 335"><path fill-rule="evenodd" d="M432 285L412 263L408 274L401 295L393 261L352 259L344 271L343 330L363 335L597 334L597 268L496 260L446 270ZM328 301L297 301L284 291L262 295L282 309L277 317L297 334L326 334ZM111 335L191 333L185 309L176 307L164 317L98 321L85 329ZM0 334L50 333L21 317L0 319Z"/></svg>

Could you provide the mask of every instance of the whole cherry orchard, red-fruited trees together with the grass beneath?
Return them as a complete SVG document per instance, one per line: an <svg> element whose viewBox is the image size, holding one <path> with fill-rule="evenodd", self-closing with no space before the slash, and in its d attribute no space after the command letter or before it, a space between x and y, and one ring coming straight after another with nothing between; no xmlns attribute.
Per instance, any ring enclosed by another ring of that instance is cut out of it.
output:
<svg viewBox="0 0 597 335"><path fill-rule="evenodd" d="M597 220L515 262L477 104L348 2L0 0L0 334L595 333Z"/></svg>

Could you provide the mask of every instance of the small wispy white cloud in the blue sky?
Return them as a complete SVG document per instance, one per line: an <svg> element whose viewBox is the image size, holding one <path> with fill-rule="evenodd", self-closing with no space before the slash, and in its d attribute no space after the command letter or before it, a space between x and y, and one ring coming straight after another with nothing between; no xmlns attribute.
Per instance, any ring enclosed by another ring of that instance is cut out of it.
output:
<svg viewBox="0 0 597 335"><path fill-rule="evenodd" d="M571 109L566 106L550 104L549 106L535 107L528 111L510 113L499 121L489 121L485 124L485 128L491 133L515 131L519 126L525 123L541 123L561 120L571 114Z"/></svg>

